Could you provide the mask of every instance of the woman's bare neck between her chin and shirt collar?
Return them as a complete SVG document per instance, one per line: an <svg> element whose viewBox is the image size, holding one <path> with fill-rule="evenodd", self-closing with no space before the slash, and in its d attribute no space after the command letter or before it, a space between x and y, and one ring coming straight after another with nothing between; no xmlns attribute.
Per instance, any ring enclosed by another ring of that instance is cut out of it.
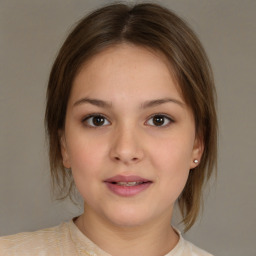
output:
<svg viewBox="0 0 256 256"><path fill-rule="evenodd" d="M120 227L84 213L75 224L91 241L113 256L165 255L179 240L170 225L170 216L140 226Z"/></svg>

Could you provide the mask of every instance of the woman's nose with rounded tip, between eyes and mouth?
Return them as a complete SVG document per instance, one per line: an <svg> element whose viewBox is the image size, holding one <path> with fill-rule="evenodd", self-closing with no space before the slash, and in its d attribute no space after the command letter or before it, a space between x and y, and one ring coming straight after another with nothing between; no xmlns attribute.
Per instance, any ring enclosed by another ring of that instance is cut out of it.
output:
<svg viewBox="0 0 256 256"><path fill-rule="evenodd" d="M110 157L113 161L130 165L143 159L142 140L135 130L128 127L116 129L110 149Z"/></svg>

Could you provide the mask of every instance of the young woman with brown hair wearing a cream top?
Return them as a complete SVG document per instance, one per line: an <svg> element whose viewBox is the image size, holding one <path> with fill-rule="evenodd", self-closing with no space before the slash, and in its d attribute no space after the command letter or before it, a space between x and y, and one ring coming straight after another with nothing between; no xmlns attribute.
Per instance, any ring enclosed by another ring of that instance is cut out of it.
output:
<svg viewBox="0 0 256 256"><path fill-rule="evenodd" d="M1 255L210 255L188 230L216 163L214 83L191 29L156 4L85 17L53 65L46 107L51 173L84 213L0 239Z"/></svg>

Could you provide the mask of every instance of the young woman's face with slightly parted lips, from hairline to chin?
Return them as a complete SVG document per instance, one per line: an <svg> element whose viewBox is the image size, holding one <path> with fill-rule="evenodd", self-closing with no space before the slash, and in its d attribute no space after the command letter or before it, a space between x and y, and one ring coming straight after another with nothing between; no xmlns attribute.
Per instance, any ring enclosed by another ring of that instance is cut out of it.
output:
<svg viewBox="0 0 256 256"><path fill-rule="evenodd" d="M61 144L85 211L119 226L170 220L202 154L192 112L166 59L128 44L82 67Z"/></svg>

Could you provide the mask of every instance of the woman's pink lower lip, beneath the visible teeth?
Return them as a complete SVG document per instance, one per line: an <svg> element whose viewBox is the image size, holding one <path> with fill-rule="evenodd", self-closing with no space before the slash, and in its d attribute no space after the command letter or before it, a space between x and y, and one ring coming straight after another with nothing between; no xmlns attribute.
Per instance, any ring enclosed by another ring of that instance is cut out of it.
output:
<svg viewBox="0 0 256 256"><path fill-rule="evenodd" d="M120 186L110 182L106 182L108 189L116 195L129 197L135 196L146 190L152 183L145 182L136 186Z"/></svg>

